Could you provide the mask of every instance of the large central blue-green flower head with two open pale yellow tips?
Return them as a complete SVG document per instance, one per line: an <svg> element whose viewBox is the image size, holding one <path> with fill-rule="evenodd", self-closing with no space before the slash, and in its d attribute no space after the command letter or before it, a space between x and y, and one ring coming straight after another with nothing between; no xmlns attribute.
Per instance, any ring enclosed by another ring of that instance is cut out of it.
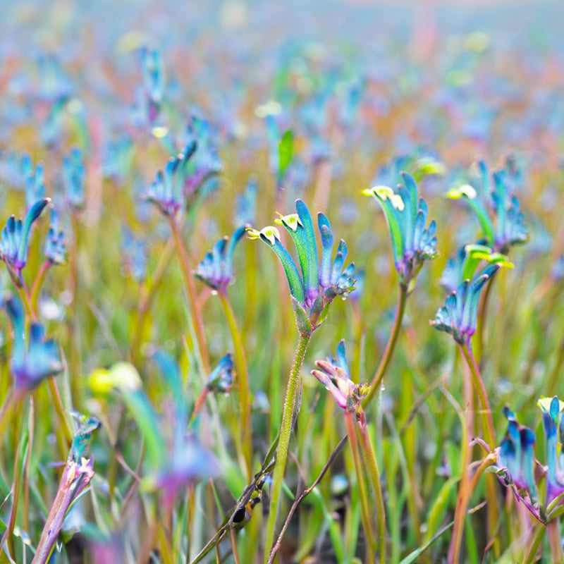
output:
<svg viewBox="0 0 564 564"><path fill-rule="evenodd" d="M313 321L313 326L315 326L321 312L337 295L345 296L353 290L355 264L353 262L343 270L347 256L347 245L343 239L338 245L335 259L331 262L333 252L331 224L326 215L319 212L317 223L323 249L320 266L312 216L302 200L296 200L295 207L297 213L281 216L276 223L286 227L294 240L302 271L301 276L290 253L282 245L280 233L276 227L268 226L261 231L249 228L247 231L250 238L261 239L274 250L288 279L290 294L295 300L293 303L296 314L300 317L306 314L309 321ZM297 307L301 313L296 309Z"/></svg>

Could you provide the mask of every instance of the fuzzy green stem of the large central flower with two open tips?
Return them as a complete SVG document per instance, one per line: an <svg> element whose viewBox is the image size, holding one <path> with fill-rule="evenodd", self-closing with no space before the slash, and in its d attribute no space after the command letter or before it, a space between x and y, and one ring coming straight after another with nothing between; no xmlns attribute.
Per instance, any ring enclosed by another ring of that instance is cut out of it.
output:
<svg viewBox="0 0 564 564"><path fill-rule="evenodd" d="M294 414L295 396L298 391L298 381L300 379L300 369L304 362L307 345L311 333L300 333L298 347L295 350L295 356L290 369L288 378L288 387L286 388L286 400L282 412L282 423L280 427L280 436L278 439L278 447L276 448L276 464L274 465L274 473L272 477L272 486L270 494L270 513L268 522L266 522L266 550L264 551L264 562L268 562L269 553L274 546L274 529L276 528L276 516L278 515L278 506L280 504L280 494L282 490L282 481L284 479L284 470L286 469L286 458L288 457L288 446L290 444L290 434L292 431L292 417Z"/></svg>

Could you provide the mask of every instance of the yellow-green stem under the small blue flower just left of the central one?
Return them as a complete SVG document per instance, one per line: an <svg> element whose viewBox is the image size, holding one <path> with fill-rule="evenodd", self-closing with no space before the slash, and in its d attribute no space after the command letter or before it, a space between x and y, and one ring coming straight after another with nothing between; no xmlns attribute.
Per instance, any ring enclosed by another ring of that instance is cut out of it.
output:
<svg viewBox="0 0 564 564"><path fill-rule="evenodd" d="M233 349L235 353L235 366L237 367L237 376L239 379L239 405L241 410L241 424L243 426L243 453L247 463L247 480L252 477L252 434L251 434L251 408L250 408L250 386L249 372L247 370L247 358L245 357L245 349L241 340L241 333L237 326L235 313L231 302L225 292L219 292L223 312L227 319L231 340L233 341Z"/></svg>

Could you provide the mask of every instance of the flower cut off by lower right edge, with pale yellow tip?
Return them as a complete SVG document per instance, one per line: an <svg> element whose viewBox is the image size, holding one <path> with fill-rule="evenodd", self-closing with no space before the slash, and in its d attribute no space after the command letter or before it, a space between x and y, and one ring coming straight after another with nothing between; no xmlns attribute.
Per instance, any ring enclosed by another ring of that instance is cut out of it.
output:
<svg viewBox="0 0 564 564"><path fill-rule="evenodd" d="M560 430L560 442L563 439L560 428L561 412L563 404L554 396L551 400L541 398L539 407L542 412L542 424L546 440L546 505L551 503L564 492L564 467L563 455L558 455L558 430Z"/></svg>

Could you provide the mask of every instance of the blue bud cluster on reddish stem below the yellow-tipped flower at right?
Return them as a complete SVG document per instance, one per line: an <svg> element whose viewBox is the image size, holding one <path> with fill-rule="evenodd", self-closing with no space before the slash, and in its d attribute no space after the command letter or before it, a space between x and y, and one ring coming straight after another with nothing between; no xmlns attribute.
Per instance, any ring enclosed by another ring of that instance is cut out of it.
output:
<svg viewBox="0 0 564 564"><path fill-rule="evenodd" d="M439 331L450 333L461 345L470 343L470 338L476 332L480 293L499 268L499 264L489 264L472 281L460 283L457 290L448 296L445 305L436 312L431 325Z"/></svg>

